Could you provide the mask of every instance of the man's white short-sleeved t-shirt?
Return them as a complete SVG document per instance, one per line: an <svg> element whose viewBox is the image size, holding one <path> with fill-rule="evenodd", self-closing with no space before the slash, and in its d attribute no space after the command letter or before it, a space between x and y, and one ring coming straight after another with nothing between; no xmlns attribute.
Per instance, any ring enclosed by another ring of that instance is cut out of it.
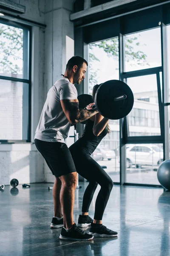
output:
<svg viewBox="0 0 170 256"><path fill-rule="evenodd" d="M68 78L61 78L48 91L34 139L65 142L71 123L65 116L61 99L77 99L77 89Z"/></svg>

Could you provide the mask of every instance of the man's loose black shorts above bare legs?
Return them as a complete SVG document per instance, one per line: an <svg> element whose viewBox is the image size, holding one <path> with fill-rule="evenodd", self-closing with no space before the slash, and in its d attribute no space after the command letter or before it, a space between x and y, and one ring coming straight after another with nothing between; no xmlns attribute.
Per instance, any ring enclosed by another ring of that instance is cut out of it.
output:
<svg viewBox="0 0 170 256"><path fill-rule="evenodd" d="M65 143L47 142L35 139L35 145L44 157L48 167L55 177L76 172L71 153Z"/></svg>

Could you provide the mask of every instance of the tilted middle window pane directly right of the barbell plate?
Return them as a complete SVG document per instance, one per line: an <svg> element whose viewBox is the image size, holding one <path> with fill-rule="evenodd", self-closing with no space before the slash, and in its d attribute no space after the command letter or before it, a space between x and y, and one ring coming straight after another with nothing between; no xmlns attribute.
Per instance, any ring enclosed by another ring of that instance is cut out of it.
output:
<svg viewBox="0 0 170 256"><path fill-rule="evenodd" d="M138 132L139 136L160 135L159 103L156 74L127 79L133 91L134 105L129 113L129 135Z"/></svg>

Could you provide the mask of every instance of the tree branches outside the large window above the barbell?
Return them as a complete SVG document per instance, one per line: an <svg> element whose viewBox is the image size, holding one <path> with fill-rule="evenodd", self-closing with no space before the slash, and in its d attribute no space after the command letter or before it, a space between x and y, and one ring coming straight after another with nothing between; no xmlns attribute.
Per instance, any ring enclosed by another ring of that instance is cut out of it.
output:
<svg viewBox="0 0 170 256"><path fill-rule="evenodd" d="M140 35L139 35L140 36ZM125 56L126 62L131 62L130 65L144 65L147 64L146 57L147 55L144 54L142 51L134 51L134 46L139 46L139 42L137 41L138 38L136 36L129 37L125 36ZM100 61L93 53L94 48L103 49L104 52L107 53L108 57L113 57L118 60L119 58L119 39L112 38L109 40L100 41L94 44L89 44L89 86L90 91L95 84L97 84L97 71L93 69L93 64L95 61ZM132 63L135 61L135 64ZM148 65L148 64L147 64Z"/></svg>

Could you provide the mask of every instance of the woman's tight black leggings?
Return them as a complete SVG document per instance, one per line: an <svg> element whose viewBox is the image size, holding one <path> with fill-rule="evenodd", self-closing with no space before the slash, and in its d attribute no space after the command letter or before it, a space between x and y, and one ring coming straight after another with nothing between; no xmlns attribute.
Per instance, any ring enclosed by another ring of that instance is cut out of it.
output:
<svg viewBox="0 0 170 256"><path fill-rule="evenodd" d="M83 196L82 212L88 212L94 192L99 184L101 189L96 198L94 219L102 220L105 207L108 203L108 199L113 188L113 181L89 154L75 152L74 146L71 146L69 149L71 151L77 172L89 181Z"/></svg>

